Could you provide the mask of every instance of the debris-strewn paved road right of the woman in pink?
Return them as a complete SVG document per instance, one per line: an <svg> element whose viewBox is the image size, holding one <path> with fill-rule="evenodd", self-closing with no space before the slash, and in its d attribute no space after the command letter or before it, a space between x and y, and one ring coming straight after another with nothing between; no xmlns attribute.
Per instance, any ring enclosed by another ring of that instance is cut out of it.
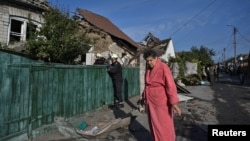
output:
<svg viewBox="0 0 250 141"><path fill-rule="evenodd" d="M176 119L177 141L207 141L207 125L250 125L250 76L240 85L236 75L221 74L214 86L188 89L194 99L180 103L186 120Z"/></svg>

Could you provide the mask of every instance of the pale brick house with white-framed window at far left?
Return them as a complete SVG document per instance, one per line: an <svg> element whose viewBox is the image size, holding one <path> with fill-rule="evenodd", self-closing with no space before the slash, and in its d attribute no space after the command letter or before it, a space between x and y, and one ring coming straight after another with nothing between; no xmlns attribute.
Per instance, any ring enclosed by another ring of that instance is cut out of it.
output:
<svg viewBox="0 0 250 141"><path fill-rule="evenodd" d="M28 31L41 25L42 13L48 7L47 0L1 0L1 46L22 51L23 43L30 37Z"/></svg>

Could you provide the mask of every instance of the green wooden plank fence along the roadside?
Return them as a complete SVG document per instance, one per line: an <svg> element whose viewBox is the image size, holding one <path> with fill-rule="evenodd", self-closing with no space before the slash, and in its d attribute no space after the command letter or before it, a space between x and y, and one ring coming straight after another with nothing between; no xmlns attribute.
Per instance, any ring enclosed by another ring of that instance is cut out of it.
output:
<svg viewBox="0 0 250 141"><path fill-rule="evenodd" d="M0 140L113 102L105 66L45 64L0 50ZM139 68L123 68L124 99L138 95Z"/></svg>

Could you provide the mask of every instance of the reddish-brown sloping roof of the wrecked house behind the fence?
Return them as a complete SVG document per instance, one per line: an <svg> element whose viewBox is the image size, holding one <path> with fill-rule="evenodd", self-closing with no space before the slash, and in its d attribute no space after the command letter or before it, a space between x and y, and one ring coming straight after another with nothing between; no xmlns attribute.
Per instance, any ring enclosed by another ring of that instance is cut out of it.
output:
<svg viewBox="0 0 250 141"><path fill-rule="evenodd" d="M131 38L129 38L124 32L122 32L117 26L115 26L109 19L90 12L85 9L77 9L78 13L83 16L83 18L90 24L96 26L97 28L111 34L112 36L122 39L133 47L138 48L139 45L135 43Z"/></svg>

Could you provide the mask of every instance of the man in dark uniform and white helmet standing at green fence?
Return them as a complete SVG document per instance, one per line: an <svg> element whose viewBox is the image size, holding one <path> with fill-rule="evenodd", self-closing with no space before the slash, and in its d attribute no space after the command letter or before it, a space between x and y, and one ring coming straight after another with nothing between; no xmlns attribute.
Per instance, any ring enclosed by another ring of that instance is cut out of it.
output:
<svg viewBox="0 0 250 141"><path fill-rule="evenodd" d="M117 61L117 54L111 56L112 64L108 68L108 73L112 78L114 87L114 105L118 108L124 107L122 98L122 66Z"/></svg>

